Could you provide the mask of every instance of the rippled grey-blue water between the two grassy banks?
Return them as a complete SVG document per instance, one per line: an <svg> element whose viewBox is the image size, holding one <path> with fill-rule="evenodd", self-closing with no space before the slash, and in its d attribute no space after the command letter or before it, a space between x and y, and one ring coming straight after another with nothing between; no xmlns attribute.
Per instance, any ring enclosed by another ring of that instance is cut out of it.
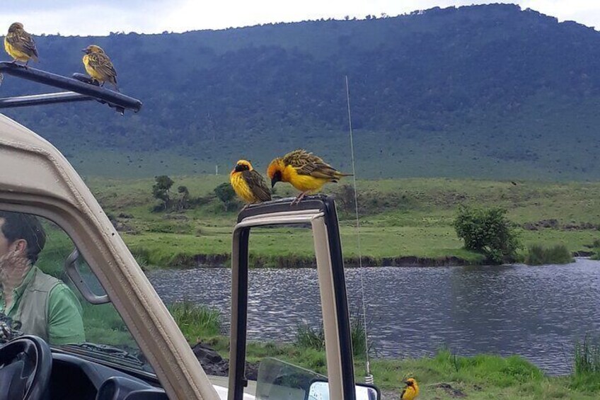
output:
<svg viewBox="0 0 600 400"><path fill-rule="evenodd" d="M387 357L420 357L448 345L461 355L519 354L551 374L571 370L576 338L600 333L600 262L531 267L364 269L369 337ZM351 309L360 273L346 272ZM226 268L149 273L166 302L217 307L229 324ZM316 270L251 270L250 339L292 341L321 321Z"/></svg>

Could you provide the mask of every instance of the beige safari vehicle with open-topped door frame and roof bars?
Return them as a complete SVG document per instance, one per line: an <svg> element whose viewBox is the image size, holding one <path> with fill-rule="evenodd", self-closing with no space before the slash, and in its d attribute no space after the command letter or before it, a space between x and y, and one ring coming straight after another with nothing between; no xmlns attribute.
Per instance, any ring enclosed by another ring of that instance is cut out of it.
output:
<svg viewBox="0 0 600 400"><path fill-rule="evenodd" d="M142 106L82 76L71 79L8 62L0 62L0 74L65 90L0 98L0 108L96 100L124 113ZM251 205L238 215L231 263L229 378L226 385L213 383L69 161L50 142L0 114L0 210L35 215L52 231L51 236L64 234L61 243L72 246L73 252L52 263L64 263L64 275L76 287L84 316L109 307L132 338L128 347L118 348L109 343L108 331L101 331L94 343L49 345L40 337L12 331L14 337L0 347L0 399L379 399L375 387L354 382L335 203L325 196L307 198L294 207L291 201ZM245 361L250 232L280 224L312 229L328 373L318 375L266 359L260 363L257 381L249 384ZM97 281L96 287L90 277ZM100 325L111 324L108 314L98 315ZM102 326L85 328L90 341L91 328Z"/></svg>

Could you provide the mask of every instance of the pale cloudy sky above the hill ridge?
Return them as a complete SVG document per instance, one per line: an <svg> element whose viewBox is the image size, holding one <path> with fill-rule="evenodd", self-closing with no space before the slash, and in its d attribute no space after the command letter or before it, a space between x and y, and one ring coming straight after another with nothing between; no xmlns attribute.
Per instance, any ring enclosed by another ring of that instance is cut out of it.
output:
<svg viewBox="0 0 600 400"><path fill-rule="evenodd" d="M488 4L461 0L4 0L1 31L13 22L25 30L61 35L108 35L110 32L161 33L238 28L270 22L320 18L397 16L435 6ZM599 0L513 1L559 21L577 21L600 30Z"/></svg>

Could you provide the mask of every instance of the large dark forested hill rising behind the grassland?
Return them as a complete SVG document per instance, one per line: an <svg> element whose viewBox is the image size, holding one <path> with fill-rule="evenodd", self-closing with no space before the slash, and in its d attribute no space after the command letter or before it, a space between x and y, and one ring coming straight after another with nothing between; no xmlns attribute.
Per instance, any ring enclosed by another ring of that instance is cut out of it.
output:
<svg viewBox="0 0 600 400"><path fill-rule="evenodd" d="M600 177L600 33L519 6L36 41L38 67L67 75L102 46L144 102L125 118L81 103L7 113L90 175L264 169L295 147L349 169L347 75L362 178ZM0 95L36 90L8 77Z"/></svg>

